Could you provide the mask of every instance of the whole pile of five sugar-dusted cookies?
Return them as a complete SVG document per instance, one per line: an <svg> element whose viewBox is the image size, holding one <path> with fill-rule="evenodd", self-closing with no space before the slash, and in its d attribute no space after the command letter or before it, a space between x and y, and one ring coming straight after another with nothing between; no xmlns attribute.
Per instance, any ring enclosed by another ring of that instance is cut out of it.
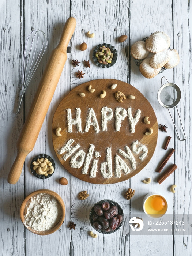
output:
<svg viewBox="0 0 192 256"><path fill-rule="evenodd" d="M131 46L131 55L146 78L174 68L180 61L177 50L170 49L170 37L165 32L155 32L135 42Z"/></svg>

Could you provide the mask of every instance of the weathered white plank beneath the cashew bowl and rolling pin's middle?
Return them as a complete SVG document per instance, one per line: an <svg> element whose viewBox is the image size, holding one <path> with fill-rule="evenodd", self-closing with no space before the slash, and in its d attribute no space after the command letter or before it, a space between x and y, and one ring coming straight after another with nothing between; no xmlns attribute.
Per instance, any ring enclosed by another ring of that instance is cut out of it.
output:
<svg viewBox="0 0 192 256"><path fill-rule="evenodd" d="M62 16L60 15L60 10L62 11ZM33 15L31 15L30 10L34 10ZM45 32L48 38L48 49L47 54L43 57L41 63L39 64L38 70L35 72L34 78L31 81L31 85L27 91L26 95L26 113L29 111L31 102L33 100L34 94L37 90L38 83L41 79L43 68L45 68L46 62L48 61L49 55L52 50L59 43L61 33L63 31L64 24L68 17L70 16L70 5L69 1L61 3L61 5L55 5L52 2L47 4L46 1L43 3L39 1L38 3L28 2L25 5L25 17L30 16L25 22L25 31L29 31L31 26L34 29L41 29ZM26 32L27 34L27 32ZM70 58L70 54L68 54ZM66 207L66 215L63 225L59 231L49 235L49 236L35 236L33 233L26 230L26 251L28 255L69 255L70 251L70 241L71 237L68 235L69 231L66 227L67 220L70 219L70 174L68 174L63 167L60 165L52 146L52 118L58 103L64 94L66 94L70 89L70 66L68 60L65 64L64 70L62 72L59 84L57 85L56 91L54 93L52 102L49 106L48 113L42 125L41 131L39 133L37 142L33 151L26 158L26 195L36 189L50 189L53 190L62 197ZM42 68L43 67L43 68ZM34 120L35 121L35 120ZM30 172L30 161L37 154L46 153L54 159L56 163L56 170L52 177L47 180L38 180ZM59 184L58 180L60 177L66 177L68 180L68 185L63 187ZM28 186L27 184L30 184ZM38 245L35 246L34 244ZM49 245L49 246L48 246Z"/></svg>

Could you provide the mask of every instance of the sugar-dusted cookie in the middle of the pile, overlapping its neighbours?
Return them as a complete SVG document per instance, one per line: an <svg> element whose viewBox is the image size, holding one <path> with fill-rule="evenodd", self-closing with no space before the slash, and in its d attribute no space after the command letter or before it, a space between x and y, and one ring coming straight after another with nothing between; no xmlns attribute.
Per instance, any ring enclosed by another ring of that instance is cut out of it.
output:
<svg viewBox="0 0 192 256"><path fill-rule="evenodd" d="M165 49L162 52L155 53L150 61L149 64L152 68L162 68L170 59L170 51Z"/></svg>

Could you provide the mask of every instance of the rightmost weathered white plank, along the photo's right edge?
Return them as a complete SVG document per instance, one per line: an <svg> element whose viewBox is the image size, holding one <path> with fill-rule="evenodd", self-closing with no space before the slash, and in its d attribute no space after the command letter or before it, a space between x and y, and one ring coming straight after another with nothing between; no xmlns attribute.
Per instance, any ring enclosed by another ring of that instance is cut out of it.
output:
<svg viewBox="0 0 192 256"><path fill-rule="evenodd" d="M182 13L181 13L182 10ZM186 133L186 140L180 142L176 136L175 161L178 165L178 172L175 172L174 184L177 185L177 190L174 196L175 214L185 214L191 216L191 196L192 196L192 182L191 182L191 125L190 117L192 115L192 108L190 104L191 97L191 31L192 29L192 8L190 2L187 1L174 1L173 3L173 37L174 48L178 49L180 55L180 64L174 71L174 82L181 89L181 101L178 104L178 111L181 114L181 120L184 124ZM175 120L180 131L180 121L177 113ZM189 223L188 235L175 235L174 237L174 255L191 255L192 241L191 241L191 227ZM188 225L187 225L188 226ZM186 226L185 226L186 227ZM183 228L182 225L177 228Z"/></svg>

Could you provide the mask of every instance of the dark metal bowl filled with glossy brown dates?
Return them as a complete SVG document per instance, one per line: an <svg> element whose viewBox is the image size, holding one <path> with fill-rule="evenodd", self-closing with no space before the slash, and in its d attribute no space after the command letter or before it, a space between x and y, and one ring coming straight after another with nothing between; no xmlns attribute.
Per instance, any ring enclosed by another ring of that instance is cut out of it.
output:
<svg viewBox="0 0 192 256"><path fill-rule="evenodd" d="M120 230L124 213L121 206L110 199L97 202L89 214L91 226L102 234L112 234Z"/></svg>

